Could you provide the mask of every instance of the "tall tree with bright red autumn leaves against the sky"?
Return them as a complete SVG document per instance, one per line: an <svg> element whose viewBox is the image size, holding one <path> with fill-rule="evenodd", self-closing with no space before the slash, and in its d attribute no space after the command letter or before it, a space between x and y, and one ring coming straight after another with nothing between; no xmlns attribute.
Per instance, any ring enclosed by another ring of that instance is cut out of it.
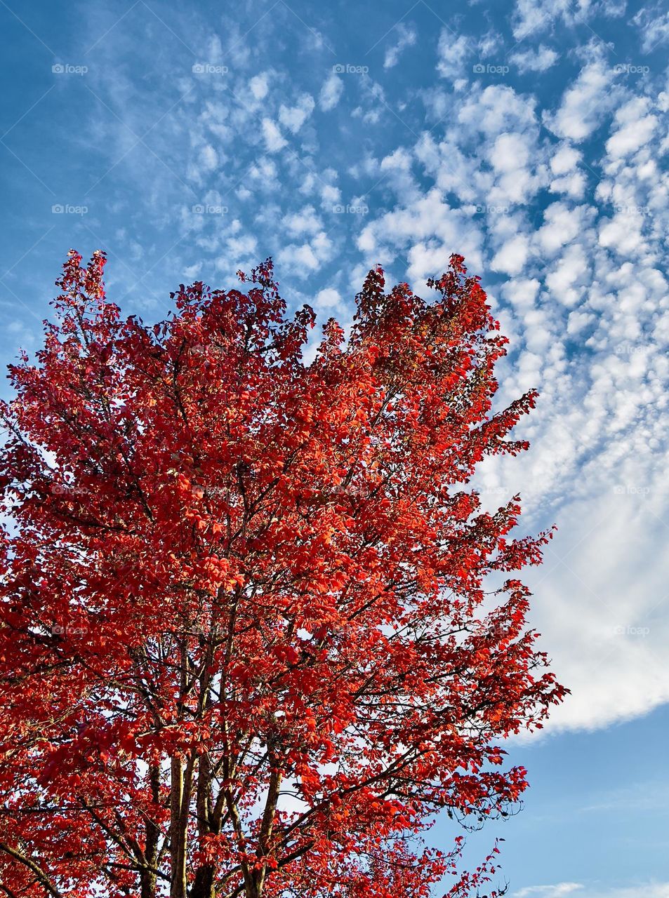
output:
<svg viewBox="0 0 669 898"><path fill-rule="evenodd" d="M564 694L524 585L486 592L549 534L463 489L535 400L491 410L479 278L375 269L305 364L269 260L153 327L104 261L70 252L2 407L4 894L470 894L493 853L459 878L419 834L508 813L499 742Z"/></svg>

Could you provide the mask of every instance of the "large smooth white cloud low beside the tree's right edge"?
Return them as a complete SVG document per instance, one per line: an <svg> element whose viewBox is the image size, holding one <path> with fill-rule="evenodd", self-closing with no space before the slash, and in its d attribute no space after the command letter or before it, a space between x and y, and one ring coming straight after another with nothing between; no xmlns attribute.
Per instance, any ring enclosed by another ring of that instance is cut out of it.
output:
<svg viewBox="0 0 669 898"><path fill-rule="evenodd" d="M578 416L573 418L577 427ZM569 445L568 427L566 420L550 434L560 450ZM578 438L577 429L572 433ZM559 511L559 532L543 569L526 577L535 595L532 620L542 633L541 648L571 690L552 711L549 731L607 726L669 700L668 571L656 555L663 551L666 525L647 515L643 503L655 505L653 499L614 492L647 484L609 476L602 497Z"/></svg>

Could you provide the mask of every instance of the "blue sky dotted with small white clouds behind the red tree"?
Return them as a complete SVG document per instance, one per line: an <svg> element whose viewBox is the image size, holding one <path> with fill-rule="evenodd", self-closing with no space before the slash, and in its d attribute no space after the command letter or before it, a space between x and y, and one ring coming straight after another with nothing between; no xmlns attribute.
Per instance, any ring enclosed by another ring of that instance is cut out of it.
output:
<svg viewBox="0 0 669 898"><path fill-rule="evenodd" d="M524 812L468 850L506 839L515 898L667 898L669 13L0 0L0 22L5 361L39 346L70 247L107 251L148 320L268 255L290 304L341 321L376 262L418 291L453 251L480 273L500 401L541 391L531 452L480 489L559 526L529 582L573 694L510 748Z"/></svg>

